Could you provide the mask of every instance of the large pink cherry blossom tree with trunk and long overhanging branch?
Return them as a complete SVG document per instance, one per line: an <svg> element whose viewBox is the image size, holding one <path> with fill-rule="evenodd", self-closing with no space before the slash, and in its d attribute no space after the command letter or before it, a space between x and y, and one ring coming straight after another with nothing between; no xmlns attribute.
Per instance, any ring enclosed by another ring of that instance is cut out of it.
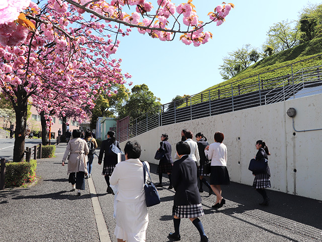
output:
<svg viewBox="0 0 322 242"><path fill-rule="evenodd" d="M162 41L181 34L183 43L199 46L212 37L204 26L221 25L233 7L218 5L204 23L191 0L178 6L157 0L155 6L153 10L145 0L0 3L0 88L16 112L14 161L24 155L28 99L44 111L48 125L50 115L64 116L67 109L81 121L95 106L100 89L125 84L131 77L122 74L121 59L112 58L119 36L136 28ZM135 11L127 14L127 8Z"/></svg>

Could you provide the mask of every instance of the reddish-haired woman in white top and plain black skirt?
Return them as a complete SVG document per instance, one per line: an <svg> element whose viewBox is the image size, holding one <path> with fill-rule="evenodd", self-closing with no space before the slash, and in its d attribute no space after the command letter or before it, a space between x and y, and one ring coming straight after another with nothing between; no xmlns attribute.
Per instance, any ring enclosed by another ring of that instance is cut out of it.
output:
<svg viewBox="0 0 322 242"><path fill-rule="evenodd" d="M221 196L221 185L229 185L229 174L227 170L227 147L222 143L224 135L216 132L214 135L215 143L205 148L205 155L211 159L210 186L216 194L216 203L213 209L221 208L225 203L225 199Z"/></svg>

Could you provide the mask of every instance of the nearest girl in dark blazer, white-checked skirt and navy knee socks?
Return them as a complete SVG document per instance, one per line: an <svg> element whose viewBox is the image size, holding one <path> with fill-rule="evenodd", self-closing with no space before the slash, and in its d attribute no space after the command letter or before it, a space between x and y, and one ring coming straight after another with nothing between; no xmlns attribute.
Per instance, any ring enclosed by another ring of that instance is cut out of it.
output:
<svg viewBox="0 0 322 242"><path fill-rule="evenodd" d="M205 214L202 209L201 197L198 191L196 163L189 156L191 151L187 142L178 142L176 150L179 160L174 162L172 170L172 183L176 191L173 206L175 232L169 233L169 237L174 240L180 240L181 218L189 218L198 229L201 241L208 241L203 225L198 218Z"/></svg>

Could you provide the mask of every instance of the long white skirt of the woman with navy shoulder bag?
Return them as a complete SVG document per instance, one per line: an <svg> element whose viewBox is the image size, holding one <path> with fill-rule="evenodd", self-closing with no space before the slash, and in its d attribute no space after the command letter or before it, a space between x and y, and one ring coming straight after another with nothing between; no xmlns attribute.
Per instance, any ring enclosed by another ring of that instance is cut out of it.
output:
<svg viewBox="0 0 322 242"><path fill-rule="evenodd" d="M145 241L149 222L145 200L137 203L117 201L116 227L114 234L127 242Z"/></svg>

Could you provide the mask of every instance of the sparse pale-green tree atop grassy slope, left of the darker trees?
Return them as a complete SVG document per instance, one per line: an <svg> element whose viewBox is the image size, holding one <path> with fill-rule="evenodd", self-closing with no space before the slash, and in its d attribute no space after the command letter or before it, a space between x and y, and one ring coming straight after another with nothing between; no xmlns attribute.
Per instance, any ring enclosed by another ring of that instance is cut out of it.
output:
<svg viewBox="0 0 322 242"><path fill-rule="evenodd" d="M265 45L273 46L276 52L292 48L298 44L298 28L292 27L294 21L282 21L274 24L267 32Z"/></svg>

